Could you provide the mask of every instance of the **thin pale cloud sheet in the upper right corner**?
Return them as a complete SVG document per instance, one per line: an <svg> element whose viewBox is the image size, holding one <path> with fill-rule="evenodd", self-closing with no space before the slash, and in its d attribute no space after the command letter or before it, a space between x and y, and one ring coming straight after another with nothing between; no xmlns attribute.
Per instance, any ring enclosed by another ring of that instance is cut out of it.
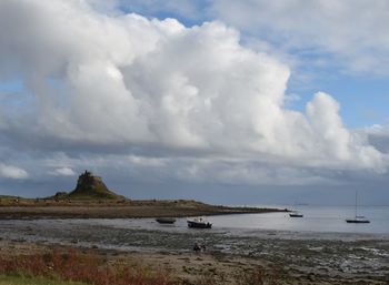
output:
<svg viewBox="0 0 389 285"><path fill-rule="evenodd" d="M215 0L208 10L249 34L300 51L302 58L327 54L318 64L389 74L387 0Z"/></svg>

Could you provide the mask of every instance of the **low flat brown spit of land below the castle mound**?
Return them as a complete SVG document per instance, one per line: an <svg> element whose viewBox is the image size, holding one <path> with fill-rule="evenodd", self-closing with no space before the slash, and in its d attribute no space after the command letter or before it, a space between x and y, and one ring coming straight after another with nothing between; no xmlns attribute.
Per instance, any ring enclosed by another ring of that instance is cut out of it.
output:
<svg viewBox="0 0 389 285"><path fill-rule="evenodd" d="M259 214L288 210L208 205L187 200L178 201L39 201L36 203L0 204L1 220L18 218L140 218L184 217L199 215Z"/></svg>

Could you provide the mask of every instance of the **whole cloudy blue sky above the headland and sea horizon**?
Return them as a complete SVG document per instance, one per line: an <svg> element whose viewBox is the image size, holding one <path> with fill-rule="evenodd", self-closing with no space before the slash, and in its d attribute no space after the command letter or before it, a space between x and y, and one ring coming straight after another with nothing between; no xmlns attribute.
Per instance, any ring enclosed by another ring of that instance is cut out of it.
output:
<svg viewBox="0 0 389 285"><path fill-rule="evenodd" d="M0 1L0 194L389 205L386 0Z"/></svg>

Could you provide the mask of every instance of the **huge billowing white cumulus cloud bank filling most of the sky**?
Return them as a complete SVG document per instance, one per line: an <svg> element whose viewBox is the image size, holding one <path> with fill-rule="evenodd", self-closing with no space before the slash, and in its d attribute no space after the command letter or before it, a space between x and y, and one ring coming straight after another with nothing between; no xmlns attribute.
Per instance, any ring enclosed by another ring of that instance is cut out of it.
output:
<svg viewBox="0 0 389 285"><path fill-rule="evenodd" d="M28 102L17 114L3 112L10 141L290 167L387 166L343 125L330 94L317 93L306 112L289 110L289 68L241 45L223 22L186 28L174 19L108 16L86 1L3 0L0 35L0 80L22 77L19 105ZM166 163L139 157L130 161Z"/></svg>

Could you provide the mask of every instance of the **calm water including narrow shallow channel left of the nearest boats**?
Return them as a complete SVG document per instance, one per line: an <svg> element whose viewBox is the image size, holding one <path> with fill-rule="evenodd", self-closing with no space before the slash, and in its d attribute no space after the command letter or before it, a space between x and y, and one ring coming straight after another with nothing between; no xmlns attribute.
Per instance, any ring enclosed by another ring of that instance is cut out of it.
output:
<svg viewBox="0 0 389 285"><path fill-rule="evenodd" d="M285 208L285 206L277 207ZM275 231L278 236L287 238L292 236L302 238L307 236L325 237L325 233L327 238L349 236L348 234L359 235L360 238L365 238L367 235L377 235L378 238L381 238L381 236L385 236L385 238L389 237L389 206L359 207L358 215L366 216L370 224L346 223L346 218L355 216L352 206L299 206L297 210L303 214L303 217L290 217L289 213L267 213L219 215L209 216L207 220L213 224L210 230L213 233L260 235L261 233ZM174 225L160 225L153 218L64 220L60 223L181 233L197 231L187 227L187 218L178 218Z"/></svg>

